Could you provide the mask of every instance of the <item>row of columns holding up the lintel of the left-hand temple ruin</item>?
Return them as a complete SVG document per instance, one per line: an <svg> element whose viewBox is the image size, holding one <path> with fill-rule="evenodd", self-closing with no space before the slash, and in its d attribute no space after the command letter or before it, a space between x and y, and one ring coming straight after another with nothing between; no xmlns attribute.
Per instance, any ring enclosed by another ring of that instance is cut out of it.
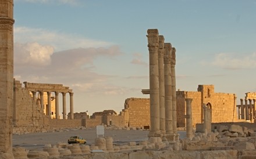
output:
<svg viewBox="0 0 256 159"><path fill-rule="evenodd" d="M32 91L33 93L33 100L36 100L36 93L35 91ZM44 109L44 92L40 91L40 104L41 108ZM74 106L73 106L73 92L69 92L70 96L70 118L74 119ZM66 116L66 92L62 92L62 104L63 104L63 119L67 119ZM51 92L47 92L47 100L48 100L48 115L51 118L52 110L51 110ZM55 92L55 111L56 111L56 119L59 119L59 92Z"/></svg>

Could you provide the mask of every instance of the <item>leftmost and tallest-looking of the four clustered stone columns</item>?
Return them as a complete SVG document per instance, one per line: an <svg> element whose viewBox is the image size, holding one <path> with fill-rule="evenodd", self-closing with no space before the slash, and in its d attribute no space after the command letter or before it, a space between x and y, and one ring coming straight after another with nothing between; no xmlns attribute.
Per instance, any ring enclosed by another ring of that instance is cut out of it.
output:
<svg viewBox="0 0 256 159"><path fill-rule="evenodd" d="M150 133L148 137L159 137L159 78L158 78L158 30L148 29L150 52Z"/></svg>

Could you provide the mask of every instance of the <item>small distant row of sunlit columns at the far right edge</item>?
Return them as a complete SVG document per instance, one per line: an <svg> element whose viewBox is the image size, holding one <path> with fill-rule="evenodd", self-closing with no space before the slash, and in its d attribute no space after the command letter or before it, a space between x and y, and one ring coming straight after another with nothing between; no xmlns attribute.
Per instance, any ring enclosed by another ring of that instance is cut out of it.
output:
<svg viewBox="0 0 256 159"><path fill-rule="evenodd" d="M249 100L249 105L248 105ZM252 103L253 100L253 103ZM244 120L250 120L251 122L254 122L255 118L255 99L240 99L241 105L238 106L238 118L244 119Z"/></svg>

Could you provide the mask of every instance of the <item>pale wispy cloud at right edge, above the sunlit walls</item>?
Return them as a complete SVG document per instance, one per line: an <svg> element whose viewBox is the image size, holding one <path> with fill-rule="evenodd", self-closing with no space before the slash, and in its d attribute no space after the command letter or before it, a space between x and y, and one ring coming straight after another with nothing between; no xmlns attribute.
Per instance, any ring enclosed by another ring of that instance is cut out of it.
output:
<svg viewBox="0 0 256 159"><path fill-rule="evenodd" d="M219 53L212 65L230 70L250 69L256 67L256 53L245 56L234 53Z"/></svg>

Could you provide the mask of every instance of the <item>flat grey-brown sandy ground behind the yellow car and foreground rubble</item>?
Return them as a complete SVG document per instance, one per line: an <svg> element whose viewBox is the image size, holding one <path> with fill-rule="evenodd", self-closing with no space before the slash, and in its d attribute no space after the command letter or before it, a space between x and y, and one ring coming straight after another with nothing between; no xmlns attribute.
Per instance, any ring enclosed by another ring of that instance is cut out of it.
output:
<svg viewBox="0 0 256 159"><path fill-rule="evenodd" d="M148 132L143 130L110 130L105 129L104 136L112 136L113 143L120 144L131 141L141 141L148 139ZM186 136L186 132L179 131L180 138ZM21 146L27 150L41 149L45 144L55 145L58 142L67 143L70 136L82 136L87 140L87 144L94 144L97 138L96 129L65 129L59 132L28 133L24 135L13 135L13 146ZM102 135L101 135L102 136Z"/></svg>

